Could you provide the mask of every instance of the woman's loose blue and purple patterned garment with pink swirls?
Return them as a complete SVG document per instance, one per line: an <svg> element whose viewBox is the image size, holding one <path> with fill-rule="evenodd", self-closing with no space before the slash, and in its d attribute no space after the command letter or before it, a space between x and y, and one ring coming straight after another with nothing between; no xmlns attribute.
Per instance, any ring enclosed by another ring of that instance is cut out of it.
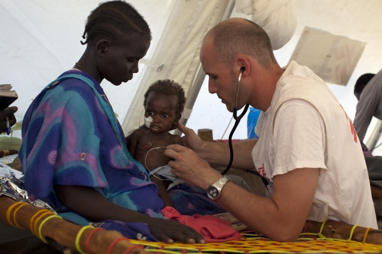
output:
<svg viewBox="0 0 382 254"><path fill-rule="evenodd" d="M48 202L69 221L89 223L59 202L55 184L92 187L119 206L163 218L156 184L128 152L100 84L84 72L64 72L34 99L23 120L19 158L30 199ZM182 214L223 212L201 190L182 188L170 191ZM147 226L141 226L145 232ZM126 236L136 239L136 234Z"/></svg>

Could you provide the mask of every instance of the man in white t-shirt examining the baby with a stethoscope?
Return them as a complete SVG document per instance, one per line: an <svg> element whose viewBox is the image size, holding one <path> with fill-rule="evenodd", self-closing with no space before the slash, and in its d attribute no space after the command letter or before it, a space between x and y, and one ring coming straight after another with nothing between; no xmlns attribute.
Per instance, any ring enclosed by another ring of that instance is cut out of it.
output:
<svg viewBox="0 0 382 254"><path fill-rule="evenodd" d="M203 142L182 125L192 150L167 146L173 173L208 188L210 197L232 215L276 241L296 240L307 219L378 228L360 140L322 79L295 62L280 68L265 31L241 18L223 21L207 33L200 60L209 92L217 93L230 112L245 68L237 108L248 103L262 111L256 127L260 138L234 144L233 167L255 168L269 183L268 195L221 179L208 162L227 165L228 145Z"/></svg>

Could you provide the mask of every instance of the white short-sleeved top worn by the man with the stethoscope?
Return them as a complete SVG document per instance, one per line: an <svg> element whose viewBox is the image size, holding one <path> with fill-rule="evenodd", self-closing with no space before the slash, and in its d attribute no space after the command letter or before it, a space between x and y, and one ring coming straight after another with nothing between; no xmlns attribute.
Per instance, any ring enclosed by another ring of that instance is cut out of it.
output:
<svg viewBox="0 0 382 254"><path fill-rule="evenodd" d="M252 150L256 170L272 195L273 177L319 168L307 220L328 219L378 229L369 175L351 120L323 80L291 62L261 113Z"/></svg>

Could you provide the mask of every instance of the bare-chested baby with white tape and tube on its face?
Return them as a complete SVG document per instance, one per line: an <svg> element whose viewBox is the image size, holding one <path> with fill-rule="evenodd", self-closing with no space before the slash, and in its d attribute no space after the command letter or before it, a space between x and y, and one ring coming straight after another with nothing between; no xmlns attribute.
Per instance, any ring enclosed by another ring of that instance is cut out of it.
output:
<svg viewBox="0 0 382 254"><path fill-rule="evenodd" d="M179 135L170 134L168 131L176 128L185 101L183 88L171 80L158 80L146 91L143 102L145 125L128 135L126 144L131 155L141 162L149 173L169 162L170 158L163 155L167 145L182 144ZM173 206L167 193L169 181L164 181L164 178L157 174L150 177L158 185L159 197L164 205Z"/></svg>

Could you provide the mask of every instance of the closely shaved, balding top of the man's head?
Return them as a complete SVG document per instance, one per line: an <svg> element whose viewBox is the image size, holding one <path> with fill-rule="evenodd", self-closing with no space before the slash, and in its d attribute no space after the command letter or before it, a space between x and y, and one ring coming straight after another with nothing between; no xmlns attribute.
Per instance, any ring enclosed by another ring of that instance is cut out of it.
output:
<svg viewBox="0 0 382 254"><path fill-rule="evenodd" d="M211 42L215 53L229 65L238 54L254 57L264 68L276 62L267 33L248 19L230 18L217 24L206 34L203 44Z"/></svg>

